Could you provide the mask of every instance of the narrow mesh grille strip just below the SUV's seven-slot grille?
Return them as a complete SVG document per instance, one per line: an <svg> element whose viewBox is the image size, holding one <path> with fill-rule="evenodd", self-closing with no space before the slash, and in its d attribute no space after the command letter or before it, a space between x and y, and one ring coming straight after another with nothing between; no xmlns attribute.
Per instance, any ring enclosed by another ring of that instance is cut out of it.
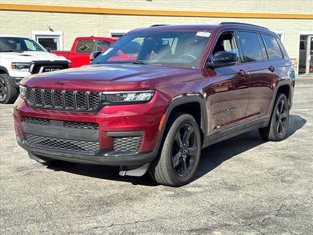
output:
<svg viewBox="0 0 313 235"><path fill-rule="evenodd" d="M51 124L51 121L54 123ZM83 121L60 121L60 120L52 120L46 118L33 118L23 116L23 122L28 122L32 124L40 124L40 125L58 125L69 128L79 128L79 129L99 129L98 123L94 122L83 122ZM56 124L59 122L60 124Z"/></svg>

